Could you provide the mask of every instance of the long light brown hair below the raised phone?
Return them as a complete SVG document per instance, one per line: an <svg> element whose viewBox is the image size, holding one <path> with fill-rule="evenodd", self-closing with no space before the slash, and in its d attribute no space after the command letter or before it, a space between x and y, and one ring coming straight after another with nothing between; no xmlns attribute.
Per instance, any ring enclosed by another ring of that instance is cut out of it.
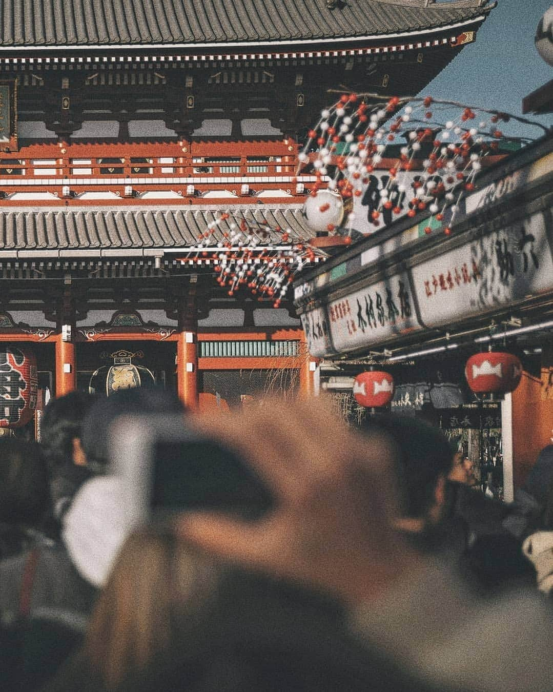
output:
<svg viewBox="0 0 553 692"><path fill-rule="evenodd" d="M168 530L129 536L93 610L83 653L114 689L174 644L183 618L194 621L215 593L219 571Z"/></svg>

